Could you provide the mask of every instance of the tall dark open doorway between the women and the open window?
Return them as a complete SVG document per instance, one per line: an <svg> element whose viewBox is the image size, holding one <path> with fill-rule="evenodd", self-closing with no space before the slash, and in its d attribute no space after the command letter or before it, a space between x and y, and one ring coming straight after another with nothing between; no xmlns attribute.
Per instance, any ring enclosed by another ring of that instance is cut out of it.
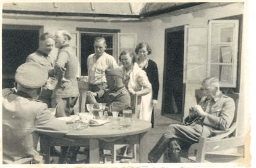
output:
<svg viewBox="0 0 256 168"><path fill-rule="evenodd" d="M161 114L177 121L184 116L184 26L165 30L163 104Z"/></svg>

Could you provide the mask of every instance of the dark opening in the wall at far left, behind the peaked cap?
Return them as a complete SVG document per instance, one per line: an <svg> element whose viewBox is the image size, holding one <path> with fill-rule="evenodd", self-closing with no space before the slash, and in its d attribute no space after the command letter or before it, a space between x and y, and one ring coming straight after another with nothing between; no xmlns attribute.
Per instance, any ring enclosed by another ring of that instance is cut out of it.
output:
<svg viewBox="0 0 256 168"><path fill-rule="evenodd" d="M2 30L2 88L14 87L16 69L38 49L40 30Z"/></svg>

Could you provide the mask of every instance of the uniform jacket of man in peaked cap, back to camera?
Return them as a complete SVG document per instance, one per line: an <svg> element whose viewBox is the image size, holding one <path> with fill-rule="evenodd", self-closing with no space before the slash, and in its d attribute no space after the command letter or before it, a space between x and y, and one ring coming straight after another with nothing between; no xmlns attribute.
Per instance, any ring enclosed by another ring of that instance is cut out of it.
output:
<svg viewBox="0 0 256 168"><path fill-rule="evenodd" d="M35 150L38 132L58 137L67 134L68 127L64 121L59 121L50 113L45 103L38 102L23 92L3 89L3 159L16 161L39 156Z"/></svg>

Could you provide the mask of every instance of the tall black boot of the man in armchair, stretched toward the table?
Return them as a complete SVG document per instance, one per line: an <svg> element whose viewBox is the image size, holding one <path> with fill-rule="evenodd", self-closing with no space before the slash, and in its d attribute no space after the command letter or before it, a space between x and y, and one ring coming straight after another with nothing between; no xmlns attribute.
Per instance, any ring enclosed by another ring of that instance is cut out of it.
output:
<svg viewBox="0 0 256 168"><path fill-rule="evenodd" d="M148 154L148 162L157 162L164 153L164 150L166 150L167 146L169 145L169 142L170 138L162 136L160 140L158 140L154 148Z"/></svg>

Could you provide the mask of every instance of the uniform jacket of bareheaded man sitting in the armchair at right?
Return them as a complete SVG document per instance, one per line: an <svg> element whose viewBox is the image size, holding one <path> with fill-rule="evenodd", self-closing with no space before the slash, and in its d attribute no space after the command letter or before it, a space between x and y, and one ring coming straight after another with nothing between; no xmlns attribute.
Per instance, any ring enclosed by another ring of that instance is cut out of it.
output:
<svg viewBox="0 0 256 168"><path fill-rule="evenodd" d="M202 137L209 137L215 134L215 130L228 129L234 119L235 103L233 98L220 94L207 100L203 97L198 105L208 114L204 119L198 119L193 124L202 124Z"/></svg>

